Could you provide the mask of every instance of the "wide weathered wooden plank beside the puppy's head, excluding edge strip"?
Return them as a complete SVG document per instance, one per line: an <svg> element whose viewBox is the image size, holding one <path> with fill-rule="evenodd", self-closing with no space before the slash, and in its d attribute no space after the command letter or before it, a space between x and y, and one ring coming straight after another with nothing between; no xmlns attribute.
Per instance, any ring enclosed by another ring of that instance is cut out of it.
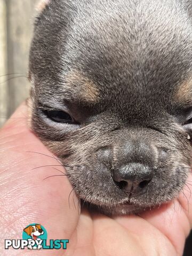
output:
<svg viewBox="0 0 192 256"><path fill-rule="evenodd" d="M5 0L7 15L7 73L15 74L7 82L7 116L28 97L28 55L33 33L33 17L38 0ZM10 77L11 78L11 77Z"/></svg>

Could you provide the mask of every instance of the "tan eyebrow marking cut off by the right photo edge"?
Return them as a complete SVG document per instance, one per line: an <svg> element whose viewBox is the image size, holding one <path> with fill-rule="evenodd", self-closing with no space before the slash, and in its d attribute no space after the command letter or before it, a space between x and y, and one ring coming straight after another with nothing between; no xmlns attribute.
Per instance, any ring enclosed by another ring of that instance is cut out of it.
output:
<svg viewBox="0 0 192 256"><path fill-rule="evenodd" d="M192 78L187 79L177 87L174 93L174 99L178 103L192 102Z"/></svg>

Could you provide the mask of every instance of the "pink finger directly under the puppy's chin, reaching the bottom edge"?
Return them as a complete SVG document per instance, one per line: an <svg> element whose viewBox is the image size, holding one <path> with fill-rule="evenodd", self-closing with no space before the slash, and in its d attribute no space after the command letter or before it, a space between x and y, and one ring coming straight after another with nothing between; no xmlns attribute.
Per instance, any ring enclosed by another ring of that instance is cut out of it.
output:
<svg viewBox="0 0 192 256"><path fill-rule="evenodd" d="M99 256L177 255L169 240L147 221L137 216L93 215L94 244ZM105 234L105 236L101 235ZM103 239L107 237L107 239Z"/></svg>

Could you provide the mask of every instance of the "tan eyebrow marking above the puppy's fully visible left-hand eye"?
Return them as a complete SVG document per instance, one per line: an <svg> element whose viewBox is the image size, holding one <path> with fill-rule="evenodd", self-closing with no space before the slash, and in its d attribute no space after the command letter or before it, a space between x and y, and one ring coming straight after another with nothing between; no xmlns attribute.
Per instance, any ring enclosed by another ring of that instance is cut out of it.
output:
<svg viewBox="0 0 192 256"><path fill-rule="evenodd" d="M95 102L98 99L99 90L97 85L79 71L70 71L65 77L65 85L69 90L74 91L77 97L80 96L82 100ZM77 86L79 86L78 91ZM75 87L75 90L73 90L73 87Z"/></svg>

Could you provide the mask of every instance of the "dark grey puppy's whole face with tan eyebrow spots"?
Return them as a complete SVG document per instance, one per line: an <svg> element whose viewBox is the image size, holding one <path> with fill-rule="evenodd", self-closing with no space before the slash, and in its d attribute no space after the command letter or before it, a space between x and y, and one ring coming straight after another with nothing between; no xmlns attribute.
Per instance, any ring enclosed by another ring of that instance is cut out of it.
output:
<svg viewBox="0 0 192 256"><path fill-rule="evenodd" d="M30 50L31 127L108 214L178 195L191 166L184 1L50 1Z"/></svg>

